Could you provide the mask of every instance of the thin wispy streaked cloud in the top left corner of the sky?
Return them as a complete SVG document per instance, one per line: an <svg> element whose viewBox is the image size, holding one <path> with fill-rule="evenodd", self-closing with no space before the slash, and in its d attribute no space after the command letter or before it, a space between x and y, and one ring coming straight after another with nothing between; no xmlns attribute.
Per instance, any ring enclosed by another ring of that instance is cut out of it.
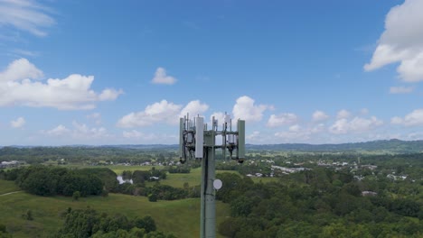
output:
<svg viewBox="0 0 423 238"><path fill-rule="evenodd" d="M48 15L49 9L31 0L0 1L0 29L13 26L36 36L45 36L42 29L52 26L55 21Z"/></svg>

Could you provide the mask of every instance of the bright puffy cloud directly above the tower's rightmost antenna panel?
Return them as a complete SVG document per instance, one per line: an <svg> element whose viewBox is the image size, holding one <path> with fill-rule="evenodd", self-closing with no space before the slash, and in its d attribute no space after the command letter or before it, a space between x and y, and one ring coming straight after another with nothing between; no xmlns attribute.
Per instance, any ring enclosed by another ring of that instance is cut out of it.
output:
<svg viewBox="0 0 423 238"><path fill-rule="evenodd" d="M264 111L271 109L268 105L255 105L254 99L249 96L240 96L233 106L232 114L235 120L241 119L248 122L261 121Z"/></svg>

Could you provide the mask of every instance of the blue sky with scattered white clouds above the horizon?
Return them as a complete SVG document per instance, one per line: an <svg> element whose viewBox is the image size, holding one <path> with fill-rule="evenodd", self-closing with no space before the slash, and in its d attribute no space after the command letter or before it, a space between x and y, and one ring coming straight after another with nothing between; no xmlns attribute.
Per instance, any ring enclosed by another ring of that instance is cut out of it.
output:
<svg viewBox="0 0 423 238"><path fill-rule="evenodd" d="M423 139L423 1L0 0L0 145Z"/></svg>

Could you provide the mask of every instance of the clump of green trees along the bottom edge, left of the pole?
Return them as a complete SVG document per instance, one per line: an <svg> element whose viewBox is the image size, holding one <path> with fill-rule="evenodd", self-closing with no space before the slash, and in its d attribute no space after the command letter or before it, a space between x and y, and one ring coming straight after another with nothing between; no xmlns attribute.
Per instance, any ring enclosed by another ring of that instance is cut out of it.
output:
<svg viewBox="0 0 423 238"><path fill-rule="evenodd" d="M173 234L156 231L155 220L149 215L129 220L126 215L99 214L89 207L84 210L68 208L64 224L55 237L176 238Z"/></svg>

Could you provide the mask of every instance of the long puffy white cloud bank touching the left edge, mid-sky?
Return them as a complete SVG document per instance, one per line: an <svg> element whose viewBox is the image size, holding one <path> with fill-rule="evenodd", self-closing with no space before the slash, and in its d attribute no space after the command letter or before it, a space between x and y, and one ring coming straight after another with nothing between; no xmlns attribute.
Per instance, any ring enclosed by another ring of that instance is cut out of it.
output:
<svg viewBox="0 0 423 238"><path fill-rule="evenodd" d="M42 78L28 59L17 59L0 73L0 106L25 105L61 110L92 109L99 101L115 100L122 90L108 88L98 94L90 87L93 76L73 74L67 78Z"/></svg>

